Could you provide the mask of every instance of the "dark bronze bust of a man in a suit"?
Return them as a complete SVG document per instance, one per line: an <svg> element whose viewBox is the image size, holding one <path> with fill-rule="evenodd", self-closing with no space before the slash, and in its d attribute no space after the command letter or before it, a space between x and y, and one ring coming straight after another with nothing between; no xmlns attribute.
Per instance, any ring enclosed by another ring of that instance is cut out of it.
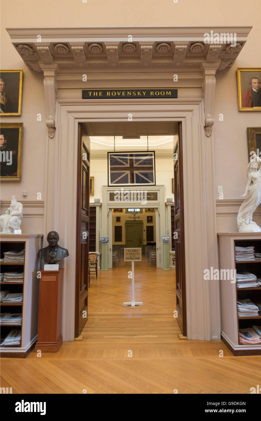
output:
<svg viewBox="0 0 261 421"><path fill-rule="evenodd" d="M47 235L48 246L38 251L38 257L48 264L54 264L69 256L66 248L59 247L59 234L56 231L50 231Z"/></svg>

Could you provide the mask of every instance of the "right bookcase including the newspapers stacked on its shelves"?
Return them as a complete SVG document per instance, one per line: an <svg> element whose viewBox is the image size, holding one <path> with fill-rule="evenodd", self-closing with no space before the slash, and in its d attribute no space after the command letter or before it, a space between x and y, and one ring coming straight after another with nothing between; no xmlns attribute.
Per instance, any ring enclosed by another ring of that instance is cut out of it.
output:
<svg viewBox="0 0 261 421"><path fill-rule="evenodd" d="M221 338L234 355L261 355L261 233L219 233L218 243L220 270L236 273L220 280Z"/></svg>

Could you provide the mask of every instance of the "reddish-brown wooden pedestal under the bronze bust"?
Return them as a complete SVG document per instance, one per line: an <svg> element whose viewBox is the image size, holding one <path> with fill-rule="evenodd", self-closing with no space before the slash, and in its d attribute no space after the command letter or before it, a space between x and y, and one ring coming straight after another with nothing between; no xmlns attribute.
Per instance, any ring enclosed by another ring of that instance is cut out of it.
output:
<svg viewBox="0 0 261 421"><path fill-rule="evenodd" d="M57 352L62 345L63 270L41 270L39 286L38 339L35 352Z"/></svg>

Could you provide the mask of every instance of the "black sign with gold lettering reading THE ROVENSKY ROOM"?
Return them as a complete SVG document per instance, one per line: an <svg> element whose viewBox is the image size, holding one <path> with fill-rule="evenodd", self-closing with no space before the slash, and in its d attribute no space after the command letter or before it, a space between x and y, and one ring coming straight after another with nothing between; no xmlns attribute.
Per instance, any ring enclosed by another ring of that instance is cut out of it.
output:
<svg viewBox="0 0 261 421"><path fill-rule="evenodd" d="M83 89L82 99L178 98L178 89Z"/></svg>

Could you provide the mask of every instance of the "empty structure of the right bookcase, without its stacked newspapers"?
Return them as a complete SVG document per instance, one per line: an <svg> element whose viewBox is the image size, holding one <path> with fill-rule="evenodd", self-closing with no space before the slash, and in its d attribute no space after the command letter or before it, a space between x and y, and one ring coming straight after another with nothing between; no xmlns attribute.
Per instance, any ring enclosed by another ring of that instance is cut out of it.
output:
<svg viewBox="0 0 261 421"><path fill-rule="evenodd" d="M236 261L235 246L254 246L256 253L261 253L261 234L256 233L220 233L219 267L236 269L237 272L251 272L261 277L261 260ZM210 281L213 282L213 281ZM221 338L234 355L261 355L261 344L240 344L239 329L261 326L261 312L256 317L238 317L237 300L250 298L253 303L261 302L261 288L237 288L237 283L229 280L220 281L221 291Z"/></svg>

